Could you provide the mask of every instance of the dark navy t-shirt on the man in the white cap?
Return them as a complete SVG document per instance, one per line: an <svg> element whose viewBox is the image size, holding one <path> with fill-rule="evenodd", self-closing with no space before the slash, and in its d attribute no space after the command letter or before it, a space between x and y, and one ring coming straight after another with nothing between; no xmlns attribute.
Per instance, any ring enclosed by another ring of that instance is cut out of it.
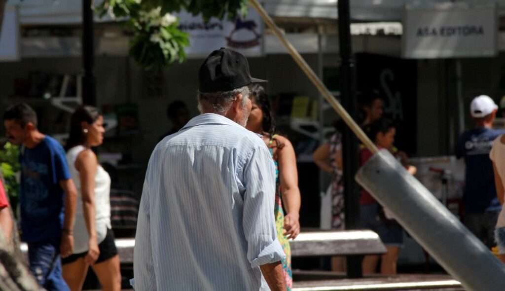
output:
<svg viewBox="0 0 505 291"><path fill-rule="evenodd" d="M456 156L465 158L465 191L463 202L466 213L499 211L496 198L493 165L489 159L493 140L505 130L478 127L460 135Z"/></svg>

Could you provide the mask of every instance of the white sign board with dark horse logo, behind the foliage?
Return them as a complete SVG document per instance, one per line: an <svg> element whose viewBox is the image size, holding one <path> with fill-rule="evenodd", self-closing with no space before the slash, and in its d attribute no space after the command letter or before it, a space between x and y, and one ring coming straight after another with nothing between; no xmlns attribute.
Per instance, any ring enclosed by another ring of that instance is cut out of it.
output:
<svg viewBox="0 0 505 291"><path fill-rule="evenodd" d="M188 57L207 57L220 47L228 47L247 57L263 55L263 22L254 9L247 16L235 21L211 18L205 23L200 16L180 12L179 28L189 33L190 46L186 48Z"/></svg>

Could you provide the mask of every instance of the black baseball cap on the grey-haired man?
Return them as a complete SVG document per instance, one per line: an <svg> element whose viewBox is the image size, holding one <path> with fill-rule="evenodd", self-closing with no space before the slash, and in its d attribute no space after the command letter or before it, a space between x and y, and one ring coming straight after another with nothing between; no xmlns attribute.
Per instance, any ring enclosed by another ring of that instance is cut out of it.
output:
<svg viewBox="0 0 505 291"><path fill-rule="evenodd" d="M240 53L221 47L212 52L201 65L198 82L200 92L212 93L268 81L252 78L247 59Z"/></svg>

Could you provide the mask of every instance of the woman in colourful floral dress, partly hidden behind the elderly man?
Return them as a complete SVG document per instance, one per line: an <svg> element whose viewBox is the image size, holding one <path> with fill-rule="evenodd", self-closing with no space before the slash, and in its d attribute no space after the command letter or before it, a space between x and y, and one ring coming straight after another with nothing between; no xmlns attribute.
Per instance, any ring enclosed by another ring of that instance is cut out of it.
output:
<svg viewBox="0 0 505 291"><path fill-rule="evenodd" d="M282 267L287 290L291 290L293 276L291 273L291 248L288 239L294 239L300 232L300 190L298 188L296 156L291 142L286 137L275 134L275 123L265 89L260 85L254 85L251 88L250 98L252 109L246 127L263 135L263 140L272 154L276 167L274 213L277 238L286 254L286 259L282 261Z"/></svg>

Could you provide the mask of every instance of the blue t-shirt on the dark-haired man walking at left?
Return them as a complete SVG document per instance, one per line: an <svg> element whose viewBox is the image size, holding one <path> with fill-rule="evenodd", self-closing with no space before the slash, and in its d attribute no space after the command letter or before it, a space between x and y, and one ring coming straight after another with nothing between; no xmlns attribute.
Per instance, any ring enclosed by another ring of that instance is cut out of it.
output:
<svg viewBox="0 0 505 291"><path fill-rule="evenodd" d="M23 147L21 163L21 230L28 243L59 237L63 227L65 192L59 182L70 179L61 144L45 136L33 149Z"/></svg>

